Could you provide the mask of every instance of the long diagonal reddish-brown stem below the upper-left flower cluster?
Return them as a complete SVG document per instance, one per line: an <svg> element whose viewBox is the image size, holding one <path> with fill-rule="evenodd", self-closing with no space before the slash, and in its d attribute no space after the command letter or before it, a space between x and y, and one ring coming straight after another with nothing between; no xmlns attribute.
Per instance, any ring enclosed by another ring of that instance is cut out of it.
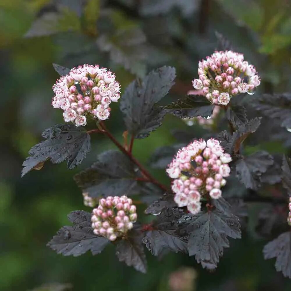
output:
<svg viewBox="0 0 291 291"><path fill-rule="evenodd" d="M116 139L115 137L107 130L106 126L104 125L104 123L100 122L99 123L100 127L103 129L103 133L106 134L109 139L111 139L111 141L120 149L120 151L122 151L125 155L127 155L129 157L129 159L136 164L136 166L139 167L139 169L141 170L141 173L143 173L143 175L148 178L149 182L152 182L153 184L157 185L158 187L160 187L163 191L167 191L168 189L161 184L159 181L157 181L155 178L153 178L151 176L151 174L140 164L140 162L132 156L132 153L127 151Z"/></svg>

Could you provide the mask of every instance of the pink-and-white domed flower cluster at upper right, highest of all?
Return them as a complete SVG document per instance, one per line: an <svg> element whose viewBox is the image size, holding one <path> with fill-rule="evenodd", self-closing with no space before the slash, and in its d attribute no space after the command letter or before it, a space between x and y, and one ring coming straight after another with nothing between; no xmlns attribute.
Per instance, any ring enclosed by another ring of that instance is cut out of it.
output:
<svg viewBox="0 0 291 291"><path fill-rule="evenodd" d="M238 93L253 94L260 77L253 65L244 61L243 54L232 51L214 52L198 65L199 79L193 87L214 104L227 105Z"/></svg>

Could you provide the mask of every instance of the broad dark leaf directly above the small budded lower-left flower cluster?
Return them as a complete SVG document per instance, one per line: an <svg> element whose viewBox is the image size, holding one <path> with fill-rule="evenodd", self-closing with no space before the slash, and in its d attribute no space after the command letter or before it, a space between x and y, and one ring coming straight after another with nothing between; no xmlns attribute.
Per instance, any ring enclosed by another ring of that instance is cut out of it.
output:
<svg viewBox="0 0 291 291"><path fill-rule="evenodd" d="M121 196L138 194L141 182L135 164L118 150L109 150L98 155L97 162L74 176L83 192L90 197Z"/></svg>

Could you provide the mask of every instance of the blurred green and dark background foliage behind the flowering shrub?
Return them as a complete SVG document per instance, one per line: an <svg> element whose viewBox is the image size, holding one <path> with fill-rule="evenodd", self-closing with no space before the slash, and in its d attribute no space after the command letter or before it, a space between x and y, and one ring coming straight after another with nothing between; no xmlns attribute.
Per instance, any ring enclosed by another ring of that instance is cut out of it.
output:
<svg viewBox="0 0 291 291"><path fill-rule="evenodd" d="M91 153L77 169L47 162L41 171L20 178L22 162L41 140L41 132L62 122L61 111L51 106L52 85L58 78L52 63L111 68L122 90L135 76L172 65L178 75L168 97L172 101L191 90L198 60L213 52L218 31L257 67L260 92L290 91L290 9L289 0L1 0L0 290L31 290L59 282L71 283L73 290L167 291L169 278L182 267L191 268L190 277L195 272L196 279L190 289L178 291L290 290L290 280L276 273L274 260L263 260L267 240L255 234L252 216L243 239L231 240L213 273L181 254L160 261L148 255L148 273L140 274L118 262L113 247L77 258L47 248L58 228L68 223L70 211L90 211L72 177L90 166L98 153L114 148L104 136L93 137ZM117 105L107 126L122 141L125 127ZM171 131L186 127L167 116L150 137L136 141L134 154L148 165L157 146L175 141ZM191 130L197 136L202 129ZM272 150L282 151L279 145L272 144ZM164 171L150 171L169 183ZM249 211L259 208L252 205Z"/></svg>

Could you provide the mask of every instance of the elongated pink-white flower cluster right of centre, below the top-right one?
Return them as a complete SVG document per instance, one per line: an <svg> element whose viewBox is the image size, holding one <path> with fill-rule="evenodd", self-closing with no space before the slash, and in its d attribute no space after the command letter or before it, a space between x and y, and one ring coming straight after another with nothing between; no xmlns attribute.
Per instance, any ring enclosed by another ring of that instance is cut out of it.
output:
<svg viewBox="0 0 291 291"><path fill-rule="evenodd" d="M213 199L221 197L220 188L226 184L225 177L230 174L229 154L216 139L195 140L180 149L167 168L170 178L173 178L172 190L174 200L179 207L197 214L200 212L201 196L209 193Z"/></svg>

